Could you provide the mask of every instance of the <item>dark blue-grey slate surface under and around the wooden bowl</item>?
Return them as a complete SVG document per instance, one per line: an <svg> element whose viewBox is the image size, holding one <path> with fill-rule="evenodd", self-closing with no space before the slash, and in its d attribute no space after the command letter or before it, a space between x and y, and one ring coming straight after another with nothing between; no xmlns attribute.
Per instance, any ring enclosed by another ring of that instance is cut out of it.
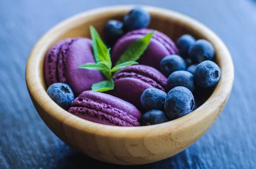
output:
<svg viewBox="0 0 256 169"><path fill-rule="evenodd" d="M103 164L75 152L47 128L29 98L25 66L35 42L57 22L125 3L169 8L207 25L229 48L235 81L220 118L199 141L166 160L122 168L256 168L255 0L0 0L0 168Z"/></svg>

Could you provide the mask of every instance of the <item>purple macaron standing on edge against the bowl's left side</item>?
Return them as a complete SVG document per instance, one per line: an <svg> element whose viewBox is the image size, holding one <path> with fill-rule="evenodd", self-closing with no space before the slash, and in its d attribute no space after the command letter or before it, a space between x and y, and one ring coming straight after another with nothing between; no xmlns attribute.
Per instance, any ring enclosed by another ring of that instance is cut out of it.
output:
<svg viewBox="0 0 256 169"><path fill-rule="evenodd" d="M67 38L49 49L44 62L44 77L47 87L56 82L69 85L75 97L91 90L94 83L105 79L100 71L79 69L80 65L94 62L92 40Z"/></svg>

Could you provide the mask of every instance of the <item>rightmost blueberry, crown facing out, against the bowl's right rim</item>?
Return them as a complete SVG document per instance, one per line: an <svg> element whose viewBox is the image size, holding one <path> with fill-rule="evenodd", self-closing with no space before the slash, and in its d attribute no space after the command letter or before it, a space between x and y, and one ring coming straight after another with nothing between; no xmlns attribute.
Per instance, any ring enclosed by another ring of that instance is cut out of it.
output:
<svg viewBox="0 0 256 169"><path fill-rule="evenodd" d="M201 62L195 68L194 80L200 87L213 87L220 79L221 70L218 65L210 60Z"/></svg>

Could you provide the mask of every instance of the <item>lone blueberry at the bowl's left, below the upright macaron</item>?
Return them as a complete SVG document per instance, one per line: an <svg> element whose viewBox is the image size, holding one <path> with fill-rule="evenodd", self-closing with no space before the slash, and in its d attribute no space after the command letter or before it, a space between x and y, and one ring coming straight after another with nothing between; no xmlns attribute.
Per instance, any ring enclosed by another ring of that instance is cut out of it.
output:
<svg viewBox="0 0 256 169"><path fill-rule="evenodd" d="M47 89L47 94L64 110L68 110L71 102L75 99L70 86L64 83L54 83Z"/></svg>

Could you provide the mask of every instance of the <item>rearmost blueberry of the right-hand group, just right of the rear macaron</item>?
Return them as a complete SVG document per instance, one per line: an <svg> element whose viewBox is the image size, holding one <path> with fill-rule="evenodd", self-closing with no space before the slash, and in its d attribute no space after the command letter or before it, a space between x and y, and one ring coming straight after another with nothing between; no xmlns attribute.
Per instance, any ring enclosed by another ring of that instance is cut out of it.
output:
<svg viewBox="0 0 256 169"><path fill-rule="evenodd" d="M188 57L189 47L195 43L195 38L189 34L182 35L177 39L177 48L179 49L180 56L186 58Z"/></svg>

